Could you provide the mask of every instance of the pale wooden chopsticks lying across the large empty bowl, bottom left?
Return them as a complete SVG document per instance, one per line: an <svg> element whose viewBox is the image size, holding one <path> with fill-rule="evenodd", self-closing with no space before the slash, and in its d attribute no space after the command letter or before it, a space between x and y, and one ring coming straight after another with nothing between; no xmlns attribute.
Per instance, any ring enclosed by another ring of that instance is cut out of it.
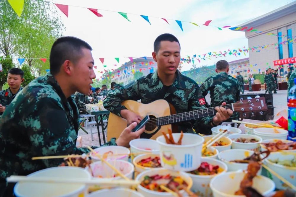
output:
<svg viewBox="0 0 296 197"><path fill-rule="evenodd" d="M138 185L139 181L135 180L110 180L110 179L83 179L83 178L54 178L54 177L28 177L12 175L6 178L9 183L16 182L38 182L38 183L67 183L67 184L86 184L102 186L130 186Z"/></svg>

